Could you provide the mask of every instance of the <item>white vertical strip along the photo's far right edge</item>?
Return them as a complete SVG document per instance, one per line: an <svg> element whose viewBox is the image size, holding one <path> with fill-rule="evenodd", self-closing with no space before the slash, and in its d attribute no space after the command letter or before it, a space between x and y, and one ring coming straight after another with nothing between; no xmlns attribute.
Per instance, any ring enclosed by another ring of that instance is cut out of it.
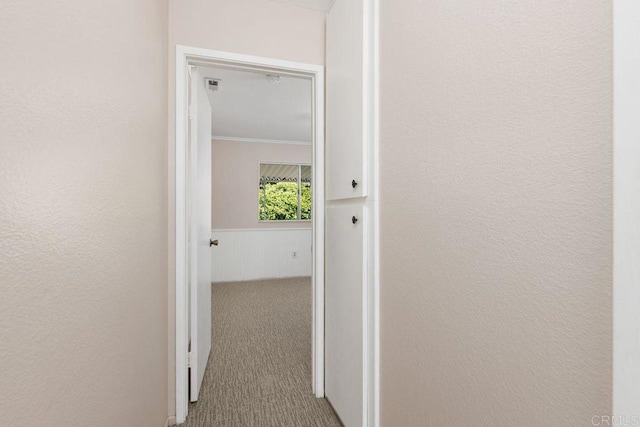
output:
<svg viewBox="0 0 640 427"><path fill-rule="evenodd" d="M640 417L640 3L613 5L613 413Z"/></svg>

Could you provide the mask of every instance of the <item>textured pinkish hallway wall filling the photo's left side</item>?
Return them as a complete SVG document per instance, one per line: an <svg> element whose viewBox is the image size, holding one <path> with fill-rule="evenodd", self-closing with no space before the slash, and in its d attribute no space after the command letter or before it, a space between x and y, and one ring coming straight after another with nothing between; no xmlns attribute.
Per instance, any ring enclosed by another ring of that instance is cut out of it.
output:
<svg viewBox="0 0 640 427"><path fill-rule="evenodd" d="M2 425L167 418L167 10L2 2Z"/></svg>

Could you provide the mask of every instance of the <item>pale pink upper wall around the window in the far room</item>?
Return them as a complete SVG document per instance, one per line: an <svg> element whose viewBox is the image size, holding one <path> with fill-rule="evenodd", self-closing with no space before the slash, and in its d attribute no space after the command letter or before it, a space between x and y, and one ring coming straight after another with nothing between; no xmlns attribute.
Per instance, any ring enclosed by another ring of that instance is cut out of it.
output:
<svg viewBox="0 0 640 427"><path fill-rule="evenodd" d="M213 141L211 156L212 228L311 228L309 221L258 221L260 163L310 164L310 145Z"/></svg>

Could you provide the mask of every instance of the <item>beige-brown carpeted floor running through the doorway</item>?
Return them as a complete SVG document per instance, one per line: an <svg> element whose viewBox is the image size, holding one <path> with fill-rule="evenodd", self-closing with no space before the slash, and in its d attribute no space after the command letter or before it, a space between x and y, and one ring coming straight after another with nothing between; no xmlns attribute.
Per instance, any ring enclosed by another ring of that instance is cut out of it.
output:
<svg viewBox="0 0 640 427"><path fill-rule="evenodd" d="M212 350L186 427L341 426L311 393L311 279L214 283Z"/></svg>

